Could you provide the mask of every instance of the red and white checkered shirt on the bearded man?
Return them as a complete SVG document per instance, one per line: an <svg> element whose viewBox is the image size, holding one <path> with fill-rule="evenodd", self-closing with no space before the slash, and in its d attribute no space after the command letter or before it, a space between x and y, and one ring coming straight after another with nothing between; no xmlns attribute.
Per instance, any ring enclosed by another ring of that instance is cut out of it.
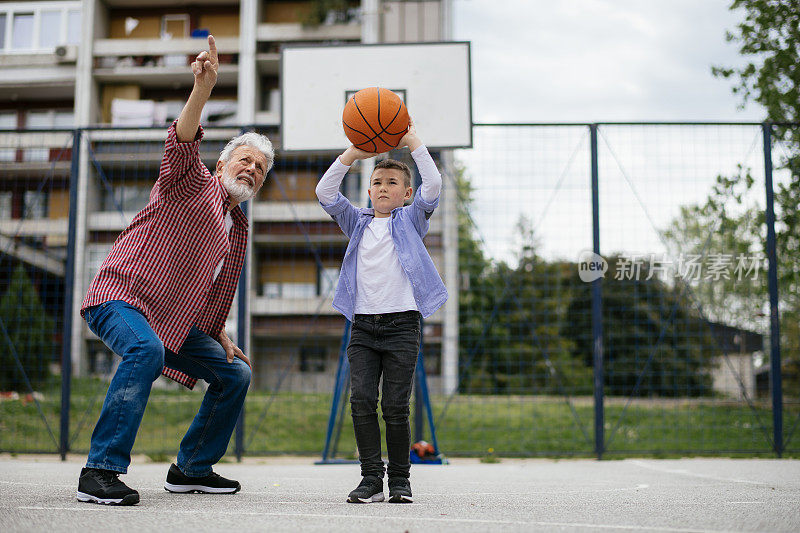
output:
<svg viewBox="0 0 800 533"><path fill-rule="evenodd" d="M203 128L194 141L182 143L176 122L167 130L150 202L100 265L81 316L87 307L123 300L144 313L164 348L178 353L193 325L214 339L222 331L244 263L247 217L238 205L231 210L228 234L228 193L200 160ZM166 366L162 373L190 389L197 382Z"/></svg>

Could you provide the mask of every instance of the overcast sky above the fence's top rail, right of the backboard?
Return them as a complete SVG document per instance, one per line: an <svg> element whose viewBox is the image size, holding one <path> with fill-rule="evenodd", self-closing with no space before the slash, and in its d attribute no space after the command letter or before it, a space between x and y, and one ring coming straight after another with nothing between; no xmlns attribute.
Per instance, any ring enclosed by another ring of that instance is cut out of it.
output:
<svg viewBox="0 0 800 533"><path fill-rule="evenodd" d="M729 3L453 0L454 38L472 42L473 119L761 120L711 75L741 63Z"/></svg>

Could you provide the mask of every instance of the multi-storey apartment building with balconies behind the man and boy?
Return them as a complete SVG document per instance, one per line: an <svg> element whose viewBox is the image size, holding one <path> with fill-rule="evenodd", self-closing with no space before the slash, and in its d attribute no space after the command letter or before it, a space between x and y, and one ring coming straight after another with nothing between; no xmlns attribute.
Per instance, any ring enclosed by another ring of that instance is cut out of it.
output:
<svg viewBox="0 0 800 533"><path fill-rule="evenodd" d="M278 152L249 213L247 344L255 385L330 390L344 330L331 299L346 240L319 208L314 187L335 154L281 153L280 49L287 43L441 41L449 39L449 27L449 0L0 3L0 129L47 129L0 133L0 244L14 250L4 252L6 259L38 265L48 287L63 292L71 155L77 150L71 280L77 312L114 239L147 202L164 128L192 86L188 64L211 33L220 69L203 117L204 162L213 165L242 125L267 134ZM72 134L59 131L73 127L86 128L74 148ZM360 182L352 174L344 192L357 198ZM432 222L426 243L444 275L446 221L440 215ZM454 279L446 283L456 292ZM236 320L229 325L235 329ZM434 391L452 390L455 383L453 375L449 385L440 383L445 329L442 311L426 321ZM81 321L72 332L75 373L102 372L113 362ZM450 354L445 366L455 368L455 343L444 351Z"/></svg>

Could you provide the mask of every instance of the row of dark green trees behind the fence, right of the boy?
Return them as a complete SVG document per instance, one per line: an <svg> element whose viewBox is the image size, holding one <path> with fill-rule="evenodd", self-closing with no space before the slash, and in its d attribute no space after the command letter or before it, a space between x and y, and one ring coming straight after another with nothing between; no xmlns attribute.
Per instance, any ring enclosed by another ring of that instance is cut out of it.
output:
<svg viewBox="0 0 800 533"><path fill-rule="evenodd" d="M470 216L471 187L457 172L459 194L459 343L461 392L590 394L591 285L578 265L537 254L531 222L520 217L513 257L487 257ZM612 272L616 258L611 261ZM647 270L642 270L647 277ZM654 277L604 283L606 390L644 396L712 393L719 355L710 326L678 287Z"/></svg>

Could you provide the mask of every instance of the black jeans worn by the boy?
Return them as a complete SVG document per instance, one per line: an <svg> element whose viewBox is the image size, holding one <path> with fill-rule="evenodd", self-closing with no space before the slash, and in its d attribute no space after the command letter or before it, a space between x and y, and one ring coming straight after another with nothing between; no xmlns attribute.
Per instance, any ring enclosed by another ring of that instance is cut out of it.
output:
<svg viewBox="0 0 800 533"><path fill-rule="evenodd" d="M408 400L419 353L418 311L356 315L347 346L350 410L362 476L383 477L378 383L383 374L381 412L386 422L389 477L408 478L411 427Z"/></svg>

